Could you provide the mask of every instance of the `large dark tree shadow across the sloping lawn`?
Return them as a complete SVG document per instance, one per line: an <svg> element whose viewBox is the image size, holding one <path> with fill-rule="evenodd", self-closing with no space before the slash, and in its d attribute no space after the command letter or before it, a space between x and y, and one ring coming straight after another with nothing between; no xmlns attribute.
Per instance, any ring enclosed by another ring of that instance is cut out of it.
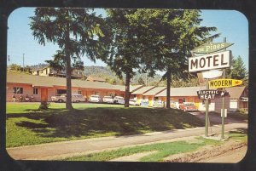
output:
<svg viewBox="0 0 256 171"><path fill-rule="evenodd" d="M67 111L49 109L23 114L7 114L7 118L25 117L15 125L27 128L41 137L96 137L166 131L173 128L194 128L203 122L187 112L174 109L97 107Z"/></svg>

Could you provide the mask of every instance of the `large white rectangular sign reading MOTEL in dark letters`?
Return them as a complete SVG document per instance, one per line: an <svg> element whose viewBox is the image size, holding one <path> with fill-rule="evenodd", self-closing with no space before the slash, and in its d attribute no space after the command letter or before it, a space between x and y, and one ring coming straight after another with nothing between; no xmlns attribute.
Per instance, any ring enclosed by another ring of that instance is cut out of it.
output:
<svg viewBox="0 0 256 171"><path fill-rule="evenodd" d="M189 58L189 72L206 71L212 69L230 67L231 51L218 52L216 54L205 54Z"/></svg>

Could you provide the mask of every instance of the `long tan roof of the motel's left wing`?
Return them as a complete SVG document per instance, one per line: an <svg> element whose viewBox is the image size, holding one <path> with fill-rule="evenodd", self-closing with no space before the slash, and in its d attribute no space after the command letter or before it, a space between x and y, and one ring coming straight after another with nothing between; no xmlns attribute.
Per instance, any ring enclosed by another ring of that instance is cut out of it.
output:
<svg viewBox="0 0 256 171"><path fill-rule="evenodd" d="M54 87L54 86L66 86L65 77L47 77L47 76L33 76L30 74L20 74L9 72L7 74L7 83L27 83L35 87ZM101 82L89 82L84 80L72 79L73 87L79 88L104 88L115 89L110 83Z"/></svg>

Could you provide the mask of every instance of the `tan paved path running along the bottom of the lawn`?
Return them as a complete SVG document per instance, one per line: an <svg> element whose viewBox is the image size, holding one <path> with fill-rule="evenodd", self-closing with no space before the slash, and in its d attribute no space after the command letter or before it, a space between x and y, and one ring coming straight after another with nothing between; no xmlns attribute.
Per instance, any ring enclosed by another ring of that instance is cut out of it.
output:
<svg viewBox="0 0 256 171"><path fill-rule="evenodd" d="M247 123L225 124L225 131L236 128L247 128ZM209 134L219 134L221 125L209 128ZM150 134L138 134L120 137L104 137L88 140L72 140L42 145L27 145L8 148L10 157L15 160L57 160L64 157L88 154L90 152L115 149L127 145L142 145L155 143L163 140L174 140L177 138L200 136L205 134L205 128L176 129L165 132L154 132Z"/></svg>

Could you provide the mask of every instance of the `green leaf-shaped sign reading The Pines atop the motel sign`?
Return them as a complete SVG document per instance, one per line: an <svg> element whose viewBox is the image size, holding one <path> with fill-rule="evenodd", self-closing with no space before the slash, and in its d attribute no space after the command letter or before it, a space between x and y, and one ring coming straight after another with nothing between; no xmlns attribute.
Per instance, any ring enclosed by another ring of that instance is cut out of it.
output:
<svg viewBox="0 0 256 171"><path fill-rule="evenodd" d="M209 54L217 52L224 48L228 48L233 44L234 43L205 43L197 48L194 48L192 52L194 52L195 54Z"/></svg>

